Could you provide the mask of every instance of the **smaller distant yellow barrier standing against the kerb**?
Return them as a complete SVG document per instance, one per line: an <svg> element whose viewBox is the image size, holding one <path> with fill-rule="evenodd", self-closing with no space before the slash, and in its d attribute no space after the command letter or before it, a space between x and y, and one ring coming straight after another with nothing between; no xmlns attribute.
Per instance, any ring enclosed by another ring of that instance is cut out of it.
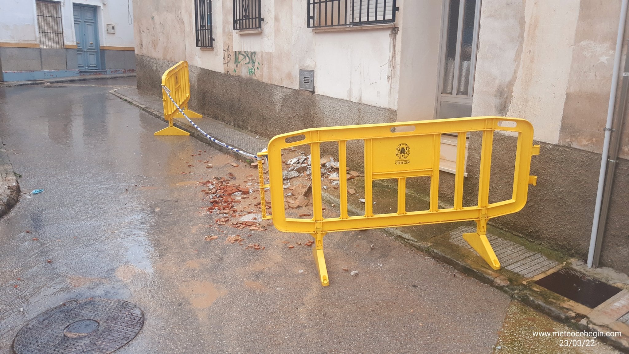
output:
<svg viewBox="0 0 629 354"><path fill-rule="evenodd" d="M170 89L170 96L189 118L201 118L199 113L188 109L188 101L190 100L188 62L178 62L177 65L165 71L164 75L162 75L162 86ZM162 101L164 101L164 118L168 120L168 127L155 132L154 135L190 135L190 133L172 125L173 118L185 117L177 109L177 106L170 101L164 90L162 90Z"/></svg>

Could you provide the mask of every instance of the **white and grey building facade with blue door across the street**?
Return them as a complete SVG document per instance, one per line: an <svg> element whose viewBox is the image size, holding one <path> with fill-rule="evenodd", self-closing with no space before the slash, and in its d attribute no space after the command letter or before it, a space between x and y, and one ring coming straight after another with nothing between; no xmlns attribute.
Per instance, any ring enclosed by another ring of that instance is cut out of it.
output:
<svg viewBox="0 0 629 354"><path fill-rule="evenodd" d="M0 81L135 71L131 0L0 1Z"/></svg>

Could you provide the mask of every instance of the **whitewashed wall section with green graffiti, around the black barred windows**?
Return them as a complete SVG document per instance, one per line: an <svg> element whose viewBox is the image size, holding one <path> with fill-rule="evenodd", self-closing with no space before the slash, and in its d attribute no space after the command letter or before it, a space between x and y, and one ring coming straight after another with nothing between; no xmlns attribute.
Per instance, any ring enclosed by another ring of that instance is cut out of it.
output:
<svg viewBox="0 0 629 354"><path fill-rule="evenodd" d="M136 7L147 9L135 14L136 54L188 60L192 66L293 89L299 88L299 69L313 69L317 94L397 108L401 46L392 28L313 31L307 28L306 1L275 0L262 1L262 33L240 34L233 30L233 2L212 3L214 50L201 50L195 44L192 1L135 0ZM400 12L397 16L396 26L401 26ZM235 63L238 52L255 52L253 74Z"/></svg>

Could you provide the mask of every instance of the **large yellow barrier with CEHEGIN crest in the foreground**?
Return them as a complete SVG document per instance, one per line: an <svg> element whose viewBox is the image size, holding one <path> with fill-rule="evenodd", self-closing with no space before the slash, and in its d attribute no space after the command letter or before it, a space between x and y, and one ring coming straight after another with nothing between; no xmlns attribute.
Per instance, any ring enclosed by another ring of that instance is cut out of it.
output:
<svg viewBox="0 0 629 354"><path fill-rule="evenodd" d="M507 122L513 127L499 125ZM391 132L392 127L414 126L411 132ZM518 134L513 194L511 199L489 203L489 172L493 134L495 130ZM482 132L481 169L479 175L478 204L463 206L463 179L465 159L465 135L467 132ZM439 208L439 159L442 134L458 134L457 163L455 169L454 207ZM305 139L294 141L299 135ZM339 171L347 168L347 140L364 140L365 163L365 214L348 216L347 181L340 178L340 216L324 218L321 210L321 171L320 144L338 141ZM284 210L284 189L282 183L282 149L308 144L312 163L312 219L287 218ZM268 156L269 185L264 184L262 166L259 164L260 197L262 198L263 219L272 219L275 227L285 232L303 232L315 238L313 254L319 270L321 285L329 285L328 273L323 256L323 236L328 232L374 229L379 227L400 227L440 222L476 221L476 232L463 234L467 243L494 269L500 269L500 262L487 241L487 220L500 215L517 212L524 207L528 185L537 184L537 176L529 176L531 157L538 155L540 146L533 146L533 126L520 118L472 117L442 120L424 120L387 124L350 125L346 127L326 127L299 130L277 135L269 142ZM421 211L406 211L406 178L430 176L430 208ZM396 178L398 180L398 211L389 214L374 214L372 181ZM270 187L272 215L266 215L264 188Z"/></svg>

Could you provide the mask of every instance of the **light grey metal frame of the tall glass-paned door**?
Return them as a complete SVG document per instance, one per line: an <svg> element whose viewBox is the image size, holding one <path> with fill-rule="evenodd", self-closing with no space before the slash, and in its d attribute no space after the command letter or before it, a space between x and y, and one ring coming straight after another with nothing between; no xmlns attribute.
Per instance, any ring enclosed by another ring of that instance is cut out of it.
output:
<svg viewBox="0 0 629 354"><path fill-rule="evenodd" d="M479 35L479 28L481 25L481 4L482 4L482 0L477 0L476 1L476 10L474 12L474 33L472 34L472 56L470 58L470 72L473 72L474 74L470 76L469 79L469 83L468 83L468 90L467 90L467 96L463 96L463 95L457 95L457 94L442 94L443 92L443 78L445 76L445 74L443 73L444 69L445 69L445 44L447 42L447 34L448 34L448 14L450 11L450 1L452 0L443 0L443 11L442 11L442 19L441 19L441 39L440 39L440 43L439 43L439 60L438 60L438 81L437 81L437 94L435 95L435 119L438 119L439 117L439 113L440 113L440 108L441 108L441 101L447 101L447 102L455 102L455 103L469 103L470 105L472 104L472 100L473 100L473 96L474 96L474 77L476 76L476 55L478 53L478 35ZM460 0L460 4L465 4L465 0ZM463 18L464 18L464 11L461 11L463 9L462 5L459 5L459 26L458 26L458 33L457 33L457 52L456 52L456 59L455 59L455 64L459 62L460 59L460 52L461 52L461 47L460 47L460 40L459 38L462 35L462 31L463 31ZM455 71L454 71L454 77L452 79L452 83L453 83L453 88L452 88L452 92L456 93L458 91L458 85L457 81L459 80L459 66L455 65ZM454 86L457 86L456 91Z"/></svg>

